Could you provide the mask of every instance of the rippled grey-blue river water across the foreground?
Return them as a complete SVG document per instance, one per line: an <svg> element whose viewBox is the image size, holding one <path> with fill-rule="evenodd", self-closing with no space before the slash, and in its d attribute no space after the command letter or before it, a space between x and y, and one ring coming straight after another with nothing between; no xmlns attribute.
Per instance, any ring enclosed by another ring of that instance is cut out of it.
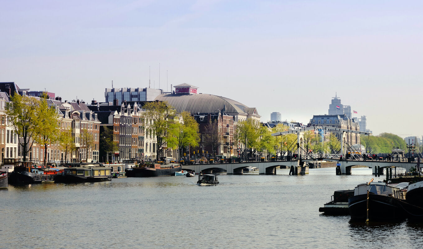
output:
<svg viewBox="0 0 423 249"><path fill-rule="evenodd" d="M337 176L221 175L119 178L104 183L9 186L0 191L0 248L420 248L422 224L353 224L319 207L333 191L368 182ZM383 176L382 176L383 177ZM375 180L381 180L375 178Z"/></svg>

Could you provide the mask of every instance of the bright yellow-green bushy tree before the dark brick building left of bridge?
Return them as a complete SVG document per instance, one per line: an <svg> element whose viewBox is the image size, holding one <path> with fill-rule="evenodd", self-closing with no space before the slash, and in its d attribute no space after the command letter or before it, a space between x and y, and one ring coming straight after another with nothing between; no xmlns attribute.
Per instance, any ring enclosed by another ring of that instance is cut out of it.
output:
<svg viewBox="0 0 423 249"><path fill-rule="evenodd" d="M181 113L182 122L177 122L172 130L171 138L168 140L168 147L175 145L179 149L179 158L183 155L187 146L197 147L200 141L199 127L197 121L187 111Z"/></svg>

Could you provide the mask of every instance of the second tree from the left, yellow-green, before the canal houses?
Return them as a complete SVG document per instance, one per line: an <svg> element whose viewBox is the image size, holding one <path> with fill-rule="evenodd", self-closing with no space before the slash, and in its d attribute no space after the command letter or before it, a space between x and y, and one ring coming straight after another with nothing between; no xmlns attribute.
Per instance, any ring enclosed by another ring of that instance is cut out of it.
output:
<svg viewBox="0 0 423 249"><path fill-rule="evenodd" d="M55 107L47 103L47 94L39 100L37 116L39 124L35 129L34 140L44 145L44 166L47 166L47 146L59 141L60 136L58 114Z"/></svg>

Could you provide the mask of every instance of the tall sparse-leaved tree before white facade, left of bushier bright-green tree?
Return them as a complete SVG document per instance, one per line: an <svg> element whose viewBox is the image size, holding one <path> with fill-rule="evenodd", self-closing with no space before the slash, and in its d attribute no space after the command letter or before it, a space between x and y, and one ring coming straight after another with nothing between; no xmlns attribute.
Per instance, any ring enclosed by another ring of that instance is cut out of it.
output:
<svg viewBox="0 0 423 249"><path fill-rule="evenodd" d="M153 130L156 135L156 160L159 160L160 155L162 155L163 149L171 136L171 134L168 133L168 130L172 130L173 125L175 125L173 122L175 110L172 109L167 102L162 101L147 102L143 106L143 109L146 109L144 116L148 120L146 127L149 130Z"/></svg>

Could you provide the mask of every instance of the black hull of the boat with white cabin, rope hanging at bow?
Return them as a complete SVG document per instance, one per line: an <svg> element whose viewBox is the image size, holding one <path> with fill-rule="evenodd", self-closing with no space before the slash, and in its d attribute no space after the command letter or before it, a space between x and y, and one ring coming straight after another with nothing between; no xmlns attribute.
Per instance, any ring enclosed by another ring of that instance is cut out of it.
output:
<svg viewBox="0 0 423 249"><path fill-rule="evenodd" d="M367 205L368 202L368 205ZM348 199L348 210L353 221L394 221L405 219L405 213L398 199L380 194L360 194Z"/></svg>

